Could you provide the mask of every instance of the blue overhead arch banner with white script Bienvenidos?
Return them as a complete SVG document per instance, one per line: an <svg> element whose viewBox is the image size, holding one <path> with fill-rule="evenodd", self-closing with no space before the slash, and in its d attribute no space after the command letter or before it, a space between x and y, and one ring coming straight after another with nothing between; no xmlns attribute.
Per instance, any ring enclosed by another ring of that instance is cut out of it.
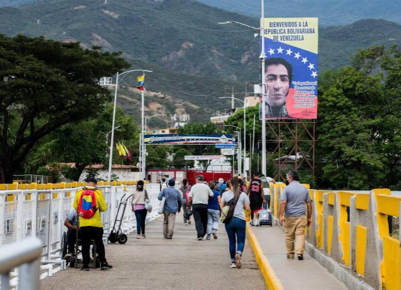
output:
<svg viewBox="0 0 401 290"><path fill-rule="evenodd" d="M149 145L214 145L234 144L232 135L195 135L195 134L156 134L145 135L144 144Z"/></svg>

